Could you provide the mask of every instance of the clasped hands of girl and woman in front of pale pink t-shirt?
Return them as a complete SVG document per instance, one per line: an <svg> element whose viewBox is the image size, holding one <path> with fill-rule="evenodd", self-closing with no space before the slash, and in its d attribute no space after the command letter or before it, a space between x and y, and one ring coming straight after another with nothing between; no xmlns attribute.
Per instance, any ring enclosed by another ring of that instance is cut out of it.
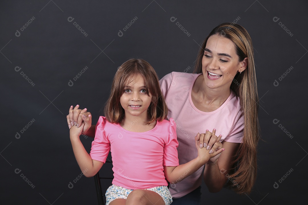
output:
<svg viewBox="0 0 308 205"><path fill-rule="evenodd" d="M214 131L214 130L213 130ZM207 132L205 134L197 134L197 136L195 136L195 141L196 141L196 147L197 147L197 150L198 150L198 158L200 160L202 160L205 163L207 163L209 160L218 160L218 157L220 156L221 152L224 151L225 149L222 148L222 144L221 142L219 141L221 139L221 135L219 135L218 137L215 136L215 131L214 131L214 135L213 133L209 132L207 130ZM212 140L214 139L215 142L213 143L213 146L210 145L210 142L211 139L209 141L206 141L208 142L206 148L203 147L204 146L204 143L205 141L201 141L201 140L204 140L204 139L209 139L211 138ZM201 141L201 143L200 143ZM201 146L203 145L203 146ZM202 147L202 148L201 148ZM214 162L214 161L213 161Z"/></svg>

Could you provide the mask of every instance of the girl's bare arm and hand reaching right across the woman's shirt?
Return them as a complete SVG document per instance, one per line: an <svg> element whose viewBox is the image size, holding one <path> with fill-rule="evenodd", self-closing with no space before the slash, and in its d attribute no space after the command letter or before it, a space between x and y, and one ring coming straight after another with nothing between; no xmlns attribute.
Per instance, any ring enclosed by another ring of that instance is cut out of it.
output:
<svg viewBox="0 0 308 205"><path fill-rule="evenodd" d="M168 182L172 184L180 182L181 180L185 179L186 177L197 171L199 168L201 168L205 163L209 161L210 158L220 154L222 151L225 150L224 148L222 148L221 142L219 142L220 139L218 140L218 142L214 143L213 147L209 150L207 150L206 148L200 148L199 140L197 140L199 138L200 134L198 133L195 137L196 147L198 150L197 158L185 164L180 164L176 167L164 166L164 173ZM221 136L219 136L218 138L221 138ZM211 154L209 152L211 152Z"/></svg>

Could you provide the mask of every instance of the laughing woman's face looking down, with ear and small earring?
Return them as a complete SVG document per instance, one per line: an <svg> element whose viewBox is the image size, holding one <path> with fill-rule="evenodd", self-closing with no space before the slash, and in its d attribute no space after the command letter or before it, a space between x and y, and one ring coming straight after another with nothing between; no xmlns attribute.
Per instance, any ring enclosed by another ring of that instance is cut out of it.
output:
<svg viewBox="0 0 308 205"><path fill-rule="evenodd" d="M219 35L210 36L202 58L205 85L211 89L228 90L239 70L246 69L247 58L239 62L234 43Z"/></svg>

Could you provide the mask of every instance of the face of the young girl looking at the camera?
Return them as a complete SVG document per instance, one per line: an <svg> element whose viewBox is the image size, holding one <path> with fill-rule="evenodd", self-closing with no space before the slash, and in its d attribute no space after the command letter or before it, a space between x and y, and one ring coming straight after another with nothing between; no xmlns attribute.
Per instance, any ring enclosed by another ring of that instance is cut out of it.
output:
<svg viewBox="0 0 308 205"><path fill-rule="evenodd" d="M138 116L146 121L148 120L147 111L152 101L152 95L146 92L144 78L141 75L138 75L130 81L128 80L129 83L124 87L124 93L120 97L120 103L125 111L125 117Z"/></svg>

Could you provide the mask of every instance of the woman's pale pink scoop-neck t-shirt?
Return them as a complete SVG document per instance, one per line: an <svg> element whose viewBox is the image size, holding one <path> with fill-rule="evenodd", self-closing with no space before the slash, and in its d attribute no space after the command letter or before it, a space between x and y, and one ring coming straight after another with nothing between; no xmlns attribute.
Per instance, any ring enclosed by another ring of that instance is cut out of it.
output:
<svg viewBox="0 0 308 205"><path fill-rule="evenodd" d="M244 117L240 111L240 101L231 92L228 99L213 112L198 110L191 99L193 84L200 74L172 72L160 80L162 93L168 106L167 118L176 122L177 148L180 164L197 157L195 136L216 129L222 135L221 141L241 143L243 139ZM170 185L174 198L180 198L201 185L203 167L181 182Z"/></svg>

